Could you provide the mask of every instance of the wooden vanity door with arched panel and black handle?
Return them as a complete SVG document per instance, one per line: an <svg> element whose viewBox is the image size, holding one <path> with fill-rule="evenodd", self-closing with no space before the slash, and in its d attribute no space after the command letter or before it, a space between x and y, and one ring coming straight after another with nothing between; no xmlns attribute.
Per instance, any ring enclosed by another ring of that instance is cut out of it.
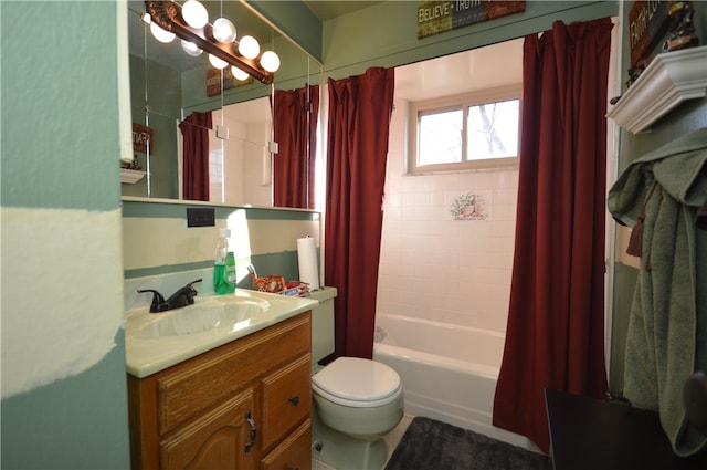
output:
<svg viewBox="0 0 707 470"><path fill-rule="evenodd" d="M252 419L253 390L228 399L160 441L160 468L250 469L257 429Z"/></svg>

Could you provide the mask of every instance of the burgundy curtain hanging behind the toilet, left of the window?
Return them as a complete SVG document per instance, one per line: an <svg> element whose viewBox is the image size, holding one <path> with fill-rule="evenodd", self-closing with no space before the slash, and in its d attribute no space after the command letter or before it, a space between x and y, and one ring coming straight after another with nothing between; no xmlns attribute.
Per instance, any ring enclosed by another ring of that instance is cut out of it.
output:
<svg viewBox="0 0 707 470"><path fill-rule="evenodd" d="M328 88L325 283L338 290L336 355L371 358L394 70Z"/></svg>

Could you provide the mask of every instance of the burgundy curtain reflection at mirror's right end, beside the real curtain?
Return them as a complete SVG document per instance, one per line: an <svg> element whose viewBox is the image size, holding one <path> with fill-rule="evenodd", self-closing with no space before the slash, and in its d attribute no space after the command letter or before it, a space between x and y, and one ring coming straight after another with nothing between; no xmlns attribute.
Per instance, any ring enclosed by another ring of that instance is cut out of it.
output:
<svg viewBox="0 0 707 470"><path fill-rule="evenodd" d="M273 139L278 145L273 163L273 205L314 209L319 85L275 90L271 104Z"/></svg>

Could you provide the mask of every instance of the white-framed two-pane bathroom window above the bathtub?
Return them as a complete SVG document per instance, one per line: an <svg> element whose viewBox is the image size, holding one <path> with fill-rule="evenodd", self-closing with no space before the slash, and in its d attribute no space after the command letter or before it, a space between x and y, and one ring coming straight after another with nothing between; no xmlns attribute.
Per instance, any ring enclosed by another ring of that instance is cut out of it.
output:
<svg viewBox="0 0 707 470"><path fill-rule="evenodd" d="M518 164L519 86L411 103L409 117L408 173Z"/></svg>

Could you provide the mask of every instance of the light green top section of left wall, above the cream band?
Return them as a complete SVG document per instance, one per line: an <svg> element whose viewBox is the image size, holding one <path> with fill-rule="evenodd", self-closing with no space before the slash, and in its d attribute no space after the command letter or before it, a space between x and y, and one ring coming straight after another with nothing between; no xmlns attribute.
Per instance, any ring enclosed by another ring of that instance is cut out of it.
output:
<svg viewBox="0 0 707 470"><path fill-rule="evenodd" d="M115 208L115 3L1 4L2 205ZM64 28L84 17L104 38Z"/></svg>

